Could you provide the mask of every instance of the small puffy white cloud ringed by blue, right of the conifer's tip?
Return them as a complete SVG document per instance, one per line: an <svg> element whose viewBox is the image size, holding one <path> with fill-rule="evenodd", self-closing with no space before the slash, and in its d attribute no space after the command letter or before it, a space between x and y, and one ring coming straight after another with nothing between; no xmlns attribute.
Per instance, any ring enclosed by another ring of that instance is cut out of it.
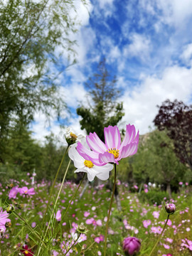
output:
<svg viewBox="0 0 192 256"><path fill-rule="evenodd" d="M123 55L127 58L137 57L142 60L147 58L150 52L149 39L138 33L133 33L129 38L131 43L124 46Z"/></svg>

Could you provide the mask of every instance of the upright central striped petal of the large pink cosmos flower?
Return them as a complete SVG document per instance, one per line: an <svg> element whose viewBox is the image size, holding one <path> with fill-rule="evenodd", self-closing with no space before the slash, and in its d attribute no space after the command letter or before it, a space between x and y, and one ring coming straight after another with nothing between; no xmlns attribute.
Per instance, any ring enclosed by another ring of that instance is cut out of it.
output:
<svg viewBox="0 0 192 256"><path fill-rule="evenodd" d="M119 149L121 144L121 135L116 125L114 127L105 127L104 135L107 149Z"/></svg>

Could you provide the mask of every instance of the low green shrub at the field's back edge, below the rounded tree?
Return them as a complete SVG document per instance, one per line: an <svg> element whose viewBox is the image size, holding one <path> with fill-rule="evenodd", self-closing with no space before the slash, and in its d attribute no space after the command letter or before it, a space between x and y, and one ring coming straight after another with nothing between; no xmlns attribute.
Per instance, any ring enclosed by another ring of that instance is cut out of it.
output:
<svg viewBox="0 0 192 256"><path fill-rule="evenodd" d="M143 203L149 203L151 205L155 203L157 206L164 202L164 198L166 198L165 200L169 200L169 194L166 193L166 191L159 191L157 189L153 189L147 193L142 191L142 193L139 194L139 199Z"/></svg>

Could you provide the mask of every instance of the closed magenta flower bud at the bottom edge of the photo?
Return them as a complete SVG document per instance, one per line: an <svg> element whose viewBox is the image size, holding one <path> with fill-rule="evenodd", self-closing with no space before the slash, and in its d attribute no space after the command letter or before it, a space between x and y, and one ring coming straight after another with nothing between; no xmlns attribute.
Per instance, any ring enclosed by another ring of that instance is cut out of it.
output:
<svg viewBox="0 0 192 256"><path fill-rule="evenodd" d="M134 238L134 237L124 238L123 250L127 255L132 256L134 255L134 253L139 252L140 247L141 247L141 242L139 241L138 238Z"/></svg>

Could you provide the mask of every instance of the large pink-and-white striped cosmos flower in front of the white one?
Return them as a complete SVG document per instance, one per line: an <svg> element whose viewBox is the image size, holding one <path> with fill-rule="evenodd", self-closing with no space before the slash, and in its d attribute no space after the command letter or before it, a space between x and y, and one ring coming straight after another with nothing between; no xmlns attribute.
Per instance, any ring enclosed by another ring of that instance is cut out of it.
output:
<svg viewBox="0 0 192 256"><path fill-rule="evenodd" d="M122 142L117 126L105 127L104 135L105 143L100 140L95 132L93 134L90 132L86 140L91 150L78 142L77 150L80 156L92 161L92 163L97 166L104 166L108 163L119 164L122 158L137 153L139 132L137 132L136 135L134 125L127 125L126 134Z"/></svg>

